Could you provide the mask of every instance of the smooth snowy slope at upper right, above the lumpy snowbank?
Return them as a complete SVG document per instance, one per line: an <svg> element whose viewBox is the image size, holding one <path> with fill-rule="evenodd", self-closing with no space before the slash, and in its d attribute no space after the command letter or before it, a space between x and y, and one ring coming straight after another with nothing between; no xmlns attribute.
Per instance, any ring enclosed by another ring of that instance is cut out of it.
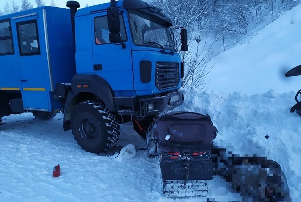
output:
<svg viewBox="0 0 301 202"><path fill-rule="evenodd" d="M237 45L213 58L207 75L208 89L223 93L297 92L301 77L284 73L301 64L301 5L254 33L248 43Z"/></svg>

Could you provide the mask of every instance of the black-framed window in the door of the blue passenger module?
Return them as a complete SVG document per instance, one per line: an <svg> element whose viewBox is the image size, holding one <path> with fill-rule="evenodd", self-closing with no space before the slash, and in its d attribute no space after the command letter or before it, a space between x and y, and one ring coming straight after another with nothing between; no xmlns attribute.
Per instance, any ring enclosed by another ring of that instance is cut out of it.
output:
<svg viewBox="0 0 301 202"><path fill-rule="evenodd" d="M17 23L20 56L40 55L40 42L36 20Z"/></svg>

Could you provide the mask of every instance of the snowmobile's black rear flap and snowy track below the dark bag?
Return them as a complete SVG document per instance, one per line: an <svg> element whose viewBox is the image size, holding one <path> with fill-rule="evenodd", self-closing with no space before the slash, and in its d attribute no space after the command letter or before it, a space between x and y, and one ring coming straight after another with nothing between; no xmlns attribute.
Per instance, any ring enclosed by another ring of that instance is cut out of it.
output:
<svg viewBox="0 0 301 202"><path fill-rule="evenodd" d="M192 156L188 165L177 152L162 154L160 168L165 197L195 197L208 194L206 180L213 179L213 167L209 155L206 152L202 154Z"/></svg>

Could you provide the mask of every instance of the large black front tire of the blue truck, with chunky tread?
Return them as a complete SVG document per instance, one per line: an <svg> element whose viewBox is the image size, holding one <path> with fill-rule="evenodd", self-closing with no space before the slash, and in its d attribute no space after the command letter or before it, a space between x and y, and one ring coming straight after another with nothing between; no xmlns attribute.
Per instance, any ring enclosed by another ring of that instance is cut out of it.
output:
<svg viewBox="0 0 301 202"><path fill-rule="evenodd" d="M116 114L100 100L84 101L72 111L72 134L77 144L87 152L98 154L114 147L119 140L119 129Z"/></svg>

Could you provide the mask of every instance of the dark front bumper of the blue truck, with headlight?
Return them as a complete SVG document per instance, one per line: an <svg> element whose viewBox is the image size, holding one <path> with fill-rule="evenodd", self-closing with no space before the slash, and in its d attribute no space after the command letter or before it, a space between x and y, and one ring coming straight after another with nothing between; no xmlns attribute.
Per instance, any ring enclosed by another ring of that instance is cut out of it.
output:
<svg viewBox="0 0 301 202"><path fill-rule="evenodd" d="M140 117L147 117L161 113L163 111L168 111L174 109L178 106L181 106L184 103L184 95L182 91L177 91L169 93L164 96L154 97L154 98L145 98L139 99L139 111ZM149 107L152 105L153 109L149 110Z"/></svg>

